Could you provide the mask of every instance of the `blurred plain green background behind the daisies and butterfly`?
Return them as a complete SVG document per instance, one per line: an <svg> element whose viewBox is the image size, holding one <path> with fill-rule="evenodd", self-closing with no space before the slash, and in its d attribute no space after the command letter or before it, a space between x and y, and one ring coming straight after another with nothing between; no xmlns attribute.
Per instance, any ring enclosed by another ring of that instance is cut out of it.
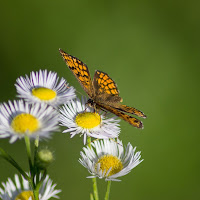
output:
<svg viewBox="0 0 200 200"><path fill-rule="evenodd" d="M142 162L110 199L168 200L200 198L199 161L199 1L4 1L0 20L0 101L16 98L19 76L56 71L83 92L58 49L62 48L118 84L124 103L148 118L138 130L121 122L120 138L142 151ZM82 138L57 133L42 142L55 152L50 177L61 199L89 199L87 170L78 163ZM25 169L23 141L0 147ZM0 181L16 170L0 159ZM99 180L100 198L106 184Z"/></svg>

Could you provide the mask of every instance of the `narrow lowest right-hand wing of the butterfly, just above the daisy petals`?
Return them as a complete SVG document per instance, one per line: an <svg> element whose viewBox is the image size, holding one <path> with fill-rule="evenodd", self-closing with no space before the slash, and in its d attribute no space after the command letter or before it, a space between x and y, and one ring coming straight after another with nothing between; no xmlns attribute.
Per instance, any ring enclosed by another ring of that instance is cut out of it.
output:
<svg viewBox="0 0 200 200"><path fill-rule="evenodd" d="M118 117L120 117L121 119L125 120L126 122L128 122L129 124L131 124L134 127L137 128L143 128L143 124L140 120L136 119L135 117L132 117L130 115L127 115L119 110L117 110L116 108L113 108L109 105L104 105L104 104L98 104L101 108L110 111L111 113L117 115Z"/></svg>

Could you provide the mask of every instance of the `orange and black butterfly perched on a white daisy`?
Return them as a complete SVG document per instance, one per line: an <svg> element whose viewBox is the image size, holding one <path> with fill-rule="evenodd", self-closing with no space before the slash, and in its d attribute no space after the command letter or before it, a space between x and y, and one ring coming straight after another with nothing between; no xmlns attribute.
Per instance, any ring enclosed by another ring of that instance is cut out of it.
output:
<svg viewBox="0 0 200 200"><path fill-rule="evenodd" d="M127 121L134 127L143 128L140 120L126 113L146 118L146 115L136 108L122 105L122 98L115 82L105 72L96 70L93 80L86 64L78 58L65 53L59 49L61 56L69 69L73 72L89 99L87 104L96 109L109 111L121 119Z"/></svg>

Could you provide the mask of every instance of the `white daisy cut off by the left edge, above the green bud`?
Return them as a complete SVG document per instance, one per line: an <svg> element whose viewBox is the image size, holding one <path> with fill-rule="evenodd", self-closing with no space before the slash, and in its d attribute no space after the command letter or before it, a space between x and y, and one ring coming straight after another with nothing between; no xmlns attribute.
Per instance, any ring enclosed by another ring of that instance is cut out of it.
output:
<svg viewBox="0 0 200 200"><path fill-rule="evenodd" d="M10 143L27 135L49 138L58 130L58 112L46 104L28 104L22 100L0 105L0 138L10 137Z"/></svg>

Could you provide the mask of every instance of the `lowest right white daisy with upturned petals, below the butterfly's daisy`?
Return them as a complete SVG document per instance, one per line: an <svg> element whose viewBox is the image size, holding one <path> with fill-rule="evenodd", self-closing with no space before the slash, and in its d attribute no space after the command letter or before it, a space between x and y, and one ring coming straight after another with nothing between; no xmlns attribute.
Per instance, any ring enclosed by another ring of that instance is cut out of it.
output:
<svg viewBox="0 0 200 200"><path fill-rule="evenodd" d="M106 181L120 181L117 178L128 174L139 165L140 151L130 143L124 148L122 141L101 140L91 143L92 147L83 148L79 162L93 175L88 178L105 178Z"/></svg>

